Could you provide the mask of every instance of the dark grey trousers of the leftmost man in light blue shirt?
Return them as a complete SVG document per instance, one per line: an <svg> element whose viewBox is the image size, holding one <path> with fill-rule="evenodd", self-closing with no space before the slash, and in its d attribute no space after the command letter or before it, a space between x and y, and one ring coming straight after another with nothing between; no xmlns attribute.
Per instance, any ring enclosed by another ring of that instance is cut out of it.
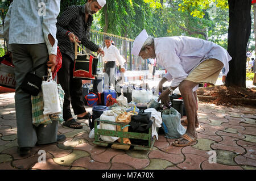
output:
<svg viewBox="0 0 256 181"><path fill-rule="evenodd" d="M58 123L53 121L47 127L32 124L31 95L20 89L25 75L38 65L49 60L45 43L41 44L10 44L15 66L15 111L19 147L33 147L38 144L50 144L57 140ZM46 75L47 66L36 69L36 75Z"/></svg>

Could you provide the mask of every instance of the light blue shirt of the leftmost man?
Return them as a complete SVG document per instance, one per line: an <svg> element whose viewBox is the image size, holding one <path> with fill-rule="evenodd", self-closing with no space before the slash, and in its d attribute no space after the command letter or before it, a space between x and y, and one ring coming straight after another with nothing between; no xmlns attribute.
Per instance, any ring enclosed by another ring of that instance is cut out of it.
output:
<svg viewBox="0 0 256 181"><path fill-rule="evenodd" d="M14 0L6 14L7 44L46 43L49 54L57 54L56 22L60 0ZM48 35L55 39L52 46Z"/></svg>

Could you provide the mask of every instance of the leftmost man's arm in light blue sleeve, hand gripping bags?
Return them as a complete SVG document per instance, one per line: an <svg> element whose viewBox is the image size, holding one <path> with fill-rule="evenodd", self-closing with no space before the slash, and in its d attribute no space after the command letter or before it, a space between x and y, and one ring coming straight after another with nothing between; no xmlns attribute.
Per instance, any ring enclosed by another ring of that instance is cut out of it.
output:
<svg viewBox="0 0 256 181"><path fill-rule="evenodd" d="M43 16L43 33L44 40L46 41L49 61L47 62L48 68L53 71L55 68L55 60L57 54L57 39L56 39L56 23L57 16L60 12L60 0L48 0L46 1L46 13Z"/></svg>

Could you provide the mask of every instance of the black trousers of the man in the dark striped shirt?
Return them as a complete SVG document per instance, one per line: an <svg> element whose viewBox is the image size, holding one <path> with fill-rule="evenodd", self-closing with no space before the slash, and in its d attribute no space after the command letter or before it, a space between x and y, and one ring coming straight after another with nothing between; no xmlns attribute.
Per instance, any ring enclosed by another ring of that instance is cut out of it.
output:
<svg viewBox="0 0 256 181"><path fill-rule="evenodd" d="M75 115L85 112L84 102L82 101L82 80L73 78L74 61L65 53L62 54L62 65L57 73L59 83L65 92L63 103L63 119L67 121L73 117L71 114L70 103Z"/></svg>

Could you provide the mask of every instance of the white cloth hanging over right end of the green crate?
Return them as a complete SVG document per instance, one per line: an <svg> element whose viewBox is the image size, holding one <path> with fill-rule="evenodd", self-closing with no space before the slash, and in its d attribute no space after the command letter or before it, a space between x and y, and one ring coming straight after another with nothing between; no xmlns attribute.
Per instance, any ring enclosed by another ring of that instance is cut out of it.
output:
<svg viewBox="0 0 256 181"><path fill-rule="evenodd" d="M162 124L161 112L156 111L155 108L148 108L148 109L144 110L144 112L151 112L150 120L153 121L152 137L155 136L156 140L158 140L158 132L156 131L156 128L160 128L161 124Z"/></svg>

